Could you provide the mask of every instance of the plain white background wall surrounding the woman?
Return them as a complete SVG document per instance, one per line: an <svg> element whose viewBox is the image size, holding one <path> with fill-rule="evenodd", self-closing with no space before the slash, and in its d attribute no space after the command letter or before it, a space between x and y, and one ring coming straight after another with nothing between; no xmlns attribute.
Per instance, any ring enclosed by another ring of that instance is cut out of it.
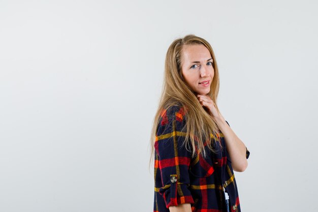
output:
<svg viewBox="0 0 318 212"><path fill-rule="evenodd" d="M316 1L0 1L0 211L152 211L164 59L214 49L242 211L316 210Z"/></svg>

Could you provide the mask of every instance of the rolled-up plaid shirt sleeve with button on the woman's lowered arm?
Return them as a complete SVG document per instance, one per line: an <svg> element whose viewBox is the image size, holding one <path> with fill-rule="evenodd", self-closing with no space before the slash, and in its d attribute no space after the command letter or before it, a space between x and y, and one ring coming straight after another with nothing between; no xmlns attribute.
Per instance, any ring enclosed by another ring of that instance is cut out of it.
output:
<svg viewBox="0 0 318 212"><path fill-rule="evenodd" d="M154 144L162 183L159 193L163 195L167 208L194 203L188 189L191 153L184 145L185 132L182 128L185 120L182 114L180 107L172 107L162 113Z"/></svg>

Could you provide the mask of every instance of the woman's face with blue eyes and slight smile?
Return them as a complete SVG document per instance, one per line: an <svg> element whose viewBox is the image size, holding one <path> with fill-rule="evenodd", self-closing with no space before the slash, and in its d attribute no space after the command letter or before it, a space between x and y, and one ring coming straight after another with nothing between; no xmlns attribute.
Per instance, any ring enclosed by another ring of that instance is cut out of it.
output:
<svg viewBox="0 0 318 212"><path fill-rule="evenodd" d="M210 92L214 76L213 59L203 44L185 45L181 56L181 73L188 86L196 93Z"/></svg>

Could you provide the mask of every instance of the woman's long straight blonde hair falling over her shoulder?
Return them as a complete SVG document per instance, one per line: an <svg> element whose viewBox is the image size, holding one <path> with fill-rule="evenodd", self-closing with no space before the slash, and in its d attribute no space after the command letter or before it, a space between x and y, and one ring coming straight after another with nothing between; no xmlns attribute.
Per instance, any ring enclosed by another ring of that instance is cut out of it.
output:
<svg viewBox="0 0 318 212"><path fill-rule="evenodd" d="M151 157L149 165L153 159L156 129L160 121L161 113L173 105L186 108L185 145L186 147L192 147L193 157L196 155L196 151L201 153L203 157L206 156L204 141L206 141L206 145L211 151L213 151L212 143L216 140L219 142L219 137L216 136L216 134L219 133L219 129L215 120L204 110L194 91L185 83L181 74L183 47L185 45L200 44L203 44L209 50L213 58L214 77L208 95L215 103L216 110L218 111L216 98L219 90L219 75L211 45L206 40L194 34L188 34L184 38L176 39L172 42L166 54L163 90L151 131Z"/></svg>

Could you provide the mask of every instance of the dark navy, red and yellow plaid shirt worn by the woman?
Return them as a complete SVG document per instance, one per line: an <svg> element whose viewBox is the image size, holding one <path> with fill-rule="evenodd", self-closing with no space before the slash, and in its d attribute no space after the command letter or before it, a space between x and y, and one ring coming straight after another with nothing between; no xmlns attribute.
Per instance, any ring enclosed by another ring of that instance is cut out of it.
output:
<svg viewBox="0 0 318 212"><path fill-rule="evenodd" d="M192 211L227 211L225 191L229 195L230 211L241 211L231 160L222 133L220 148L216 142L207 157L187 151L182 145L185 132L185 110L173 106L164 110L156 131L154 162L154 212L169 211L169 206L190 203ZM228 123L229 124L229 123ZM246 149L246 158L249 151Z"/></svg>

